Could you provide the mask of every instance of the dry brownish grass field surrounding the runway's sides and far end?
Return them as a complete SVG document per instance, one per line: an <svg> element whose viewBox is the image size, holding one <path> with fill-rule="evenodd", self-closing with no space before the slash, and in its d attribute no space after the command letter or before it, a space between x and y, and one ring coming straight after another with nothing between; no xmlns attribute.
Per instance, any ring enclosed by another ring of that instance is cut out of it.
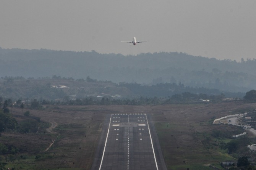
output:
<svg viewBox="0 0 256 170"><path fill-rule="evenodd" d="M229 102L194 105L143 106L47 106L29 110L41 121L53 121L55 133L2 133L1 143L15 146L16 154L0 157L6 168L15 170L90 170L101 134L105 115L111 113L152 114L167 168L170 170L211 169L220 162L232 160L220 143L228 138L215 138L214 130L235 132L232 125L212 125L211 120L224 115L255 109L254 103ZM20 115L13 108L13 115ZM50 125L50 123L49 123ZM54 141L54 143L53 143ZM52 146L45 151L50 144Z"/></svg>

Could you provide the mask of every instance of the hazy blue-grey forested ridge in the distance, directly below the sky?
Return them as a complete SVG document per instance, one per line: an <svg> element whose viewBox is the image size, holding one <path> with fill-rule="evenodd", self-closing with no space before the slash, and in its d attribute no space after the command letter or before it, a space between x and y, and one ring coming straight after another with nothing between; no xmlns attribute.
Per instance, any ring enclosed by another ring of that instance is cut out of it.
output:
<svg viewBox="0 0 256 170"><path fill-rule="evenodd" d="M22 50L0 48L0 77L72 77L115 83L183 83L230 92L256 89L256 59L241 62L185 53L141 53L136 56L96 51Z"/></svg>

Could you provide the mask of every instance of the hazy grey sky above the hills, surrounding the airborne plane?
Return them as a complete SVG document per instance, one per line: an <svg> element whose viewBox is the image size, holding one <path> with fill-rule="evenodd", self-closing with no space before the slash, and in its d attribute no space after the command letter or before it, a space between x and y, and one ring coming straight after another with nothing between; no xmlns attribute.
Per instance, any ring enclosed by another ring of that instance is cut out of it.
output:
<svg viewBox="0 0 256 170"><path fill-rule="evenodd" d="M256 58L255 0L0 0L0 47ZM148 42L132 45L120 41Z"/></svg>

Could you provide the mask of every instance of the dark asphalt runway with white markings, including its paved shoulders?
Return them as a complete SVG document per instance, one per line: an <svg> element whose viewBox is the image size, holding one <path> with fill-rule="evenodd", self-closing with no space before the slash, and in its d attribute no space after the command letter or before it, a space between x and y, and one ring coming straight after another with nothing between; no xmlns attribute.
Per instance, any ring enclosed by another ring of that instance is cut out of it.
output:
<svg viewBox="0 0 256 170"><path fill-rule="evenodd" d="M91 170L167 170L151 114L110 114Z"/></svg>

